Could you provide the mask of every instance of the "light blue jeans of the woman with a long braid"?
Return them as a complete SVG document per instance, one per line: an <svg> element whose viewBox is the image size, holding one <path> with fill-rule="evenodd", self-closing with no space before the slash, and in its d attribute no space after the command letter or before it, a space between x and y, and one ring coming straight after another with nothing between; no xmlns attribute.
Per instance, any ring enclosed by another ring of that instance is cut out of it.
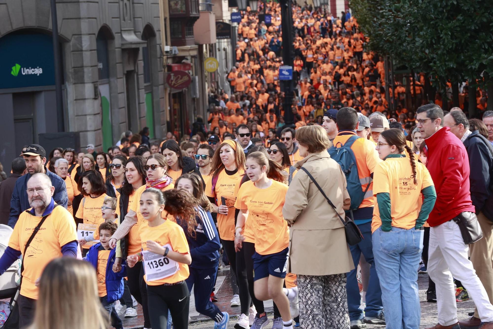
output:
<svg viewBox="0 0 493 329"><path fill-rule="evenodd" d="M423 250L423 230L392 227L373 233L373 254L388 329L419 329L418 266Z"/></svg>

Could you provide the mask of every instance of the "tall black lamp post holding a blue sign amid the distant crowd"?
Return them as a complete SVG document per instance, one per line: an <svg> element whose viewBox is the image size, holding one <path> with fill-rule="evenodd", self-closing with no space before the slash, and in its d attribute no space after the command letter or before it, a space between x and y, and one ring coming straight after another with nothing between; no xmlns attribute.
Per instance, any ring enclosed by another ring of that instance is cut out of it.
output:
<svg viewBox="0 0 493 329"><path fill-rule="evenodd" d="M283 65L293 66L294 46L293 46L293 13L291 0L280 0L281 3L281 22L282 22L282 61ZM284 90L284 127L294 127L294 116L292 112L294 84L293 80L281 81L281 90Z"/></svg>

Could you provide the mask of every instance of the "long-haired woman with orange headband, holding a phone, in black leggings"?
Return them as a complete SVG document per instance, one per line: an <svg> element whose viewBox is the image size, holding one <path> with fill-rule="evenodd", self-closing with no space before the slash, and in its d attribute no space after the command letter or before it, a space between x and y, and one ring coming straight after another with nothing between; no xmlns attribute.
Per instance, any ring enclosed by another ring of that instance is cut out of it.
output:
<svg viewBox="0 0 493 329"><path fill-rule="evenodd" d="M206 186L206 196L211 201L213 212L217 212L217 225L221 243L231 264L231 270L237 277L240 291L241 315L235 328L249 329L250 293L246 281L246 271L236 271L235 251L235 202L236 184L245 173L245 153L241 145L227 139L223 141L212 157L211 181ZM252 319L253 321L253 319Z"/></svg>

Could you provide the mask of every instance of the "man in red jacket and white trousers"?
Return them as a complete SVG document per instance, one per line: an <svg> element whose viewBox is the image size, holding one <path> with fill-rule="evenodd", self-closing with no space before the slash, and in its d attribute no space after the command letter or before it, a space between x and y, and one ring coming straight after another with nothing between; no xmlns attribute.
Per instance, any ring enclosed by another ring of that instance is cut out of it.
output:
<svg viewBox="0 0 493 329"><path fill-rule="evenodd" d="M469 247L452 219L463 212L474 213L469 191L469 158L462 142L443 127L443 111L436 104L416 111L417 127L428 148L428 168L437 199L431 211L428 274L436 285L438 325L429 329L460 329L453 277L460 280L472 296L483 325L493 329L493 306L471 261Z"/></svg>

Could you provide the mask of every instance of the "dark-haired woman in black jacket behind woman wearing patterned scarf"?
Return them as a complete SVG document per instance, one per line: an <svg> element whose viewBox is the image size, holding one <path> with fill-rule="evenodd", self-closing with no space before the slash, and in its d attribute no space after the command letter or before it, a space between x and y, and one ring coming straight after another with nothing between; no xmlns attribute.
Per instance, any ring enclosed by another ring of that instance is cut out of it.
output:
<svg viewBox="0 0 493 329"><path fill-rule="evenodd" d="M195 172L201 178L199 168L195 165L195 160L181 155L180 147L178 143L172 140L167 140L161 146L161 153L166 158L168 175L175 182L176 179L184 173ZM205 186L204 180L202 182Z"/></svg>

